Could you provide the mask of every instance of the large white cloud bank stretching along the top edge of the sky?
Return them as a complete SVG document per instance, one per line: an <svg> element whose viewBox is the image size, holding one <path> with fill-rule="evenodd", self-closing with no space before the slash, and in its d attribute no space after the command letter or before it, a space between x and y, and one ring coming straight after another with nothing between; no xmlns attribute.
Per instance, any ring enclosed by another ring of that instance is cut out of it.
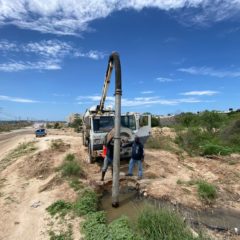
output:
<svg viewBox="0 0 240 240"><path fill-rule="evenodd" d="M89 23L124 9L182 10L178 18L193 23L236 17L239 0L0 0L0 25L16 25L43 33L78 35ZM195 11L194 11L195 10ZM176 14L179 11L176 11Z"/></svg>

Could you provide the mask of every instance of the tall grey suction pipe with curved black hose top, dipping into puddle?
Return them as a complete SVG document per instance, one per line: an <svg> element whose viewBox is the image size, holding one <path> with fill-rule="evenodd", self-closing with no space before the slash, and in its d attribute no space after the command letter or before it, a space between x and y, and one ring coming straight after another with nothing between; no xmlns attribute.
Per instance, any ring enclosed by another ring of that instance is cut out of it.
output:
<svg viewBox="0 0 240 240"><path fill-rule="evenodd" d="M113 184L112 184L112 206L119 207L119 168L120 168L120 128L121 128L121 96L122 79L119 54L114 52L109 57L109 66L112 63L115 68L115 134L113 154Z"/></svg>

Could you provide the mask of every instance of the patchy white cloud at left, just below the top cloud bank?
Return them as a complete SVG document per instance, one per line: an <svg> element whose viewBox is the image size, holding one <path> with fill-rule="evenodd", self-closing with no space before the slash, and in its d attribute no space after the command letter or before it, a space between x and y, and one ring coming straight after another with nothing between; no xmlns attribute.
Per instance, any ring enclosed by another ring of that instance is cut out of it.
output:
<svg viewBox="0 0 240 240"><path fill-rule="evenodd" d="M0 0L1 1L1 0ZM105 54L90 50L82 52L72 46L69 42L59 40L43 40L40 42L30 42L26 44L17 44L7 40L0 41L0 52L5 56L12 56L13 53L21 53L21 57L29 58L31 61L13 61L0 63L0 71L16 72L23 70L58 70L62 68L62 62L66 57L84 57L93 60L99 60L105 57ZM13 55L15 57L15 55ZM12 58L12 57L11 57Z"/></svg>

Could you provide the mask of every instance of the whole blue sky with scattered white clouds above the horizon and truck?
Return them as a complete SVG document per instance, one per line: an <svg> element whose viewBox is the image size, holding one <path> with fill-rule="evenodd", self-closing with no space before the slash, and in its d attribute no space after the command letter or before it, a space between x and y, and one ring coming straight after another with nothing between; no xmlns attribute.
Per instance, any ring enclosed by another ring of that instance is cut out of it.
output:
<svg viewBox="0 0 240 240"><path fill-rule="evenodd" d="M0 0L0 120L84 113L113 51L122 112L238 109L239 42L240 0Z"/></svg>

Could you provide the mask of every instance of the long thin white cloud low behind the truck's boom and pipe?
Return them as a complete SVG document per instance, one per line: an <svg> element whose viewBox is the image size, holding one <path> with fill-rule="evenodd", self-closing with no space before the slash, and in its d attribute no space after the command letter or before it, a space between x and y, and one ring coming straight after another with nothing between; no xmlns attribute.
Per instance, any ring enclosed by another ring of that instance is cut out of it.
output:
<svg viewBox="0 0 240 240"><path fill-rule="evenodd" d="M79 96L76 98L78 104L87 105L87 104L98 104L101 96L90 95L90 96ZM113 105L114 106L114 97L107 97L105 106ZM181 103L200 103L206 102L195 98L180 98L180 99L161 99L158 96L153 97L135 97L132 99L122 98L123 107L136 107L136 106L152 106L152 105L179 105Z"/></svg>

